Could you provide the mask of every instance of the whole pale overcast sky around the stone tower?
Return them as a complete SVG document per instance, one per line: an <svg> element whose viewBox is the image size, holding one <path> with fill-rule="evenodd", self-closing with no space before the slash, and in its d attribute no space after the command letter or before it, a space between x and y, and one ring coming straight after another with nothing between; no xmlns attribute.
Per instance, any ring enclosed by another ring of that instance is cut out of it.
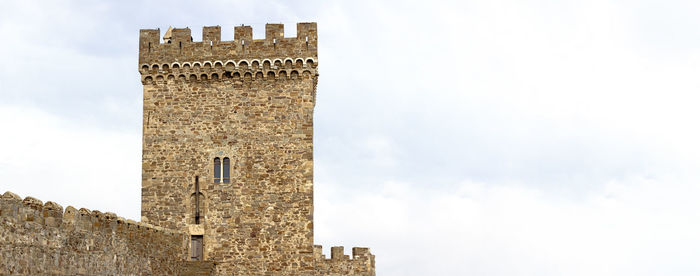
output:
<svg viewBox="0 0 700 276"><path fill-rule="evenodd" d="M3 1L0 192L140 219L142 28L319 28L315 243L699 275L698 1Z"/></svg>

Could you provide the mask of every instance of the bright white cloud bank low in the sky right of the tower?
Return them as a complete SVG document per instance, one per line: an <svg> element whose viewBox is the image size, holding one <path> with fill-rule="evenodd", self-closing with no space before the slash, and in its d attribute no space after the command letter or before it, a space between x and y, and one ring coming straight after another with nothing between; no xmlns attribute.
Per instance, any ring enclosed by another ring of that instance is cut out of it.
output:
<svg viewBox="0 0 700 276"><path fill-rule="evenodd" d="M384 275L694 275L700 188L666 181L609 182L577 201L471 181L387 182L340 201L317 183L316 243L371 245Z"/></svg>

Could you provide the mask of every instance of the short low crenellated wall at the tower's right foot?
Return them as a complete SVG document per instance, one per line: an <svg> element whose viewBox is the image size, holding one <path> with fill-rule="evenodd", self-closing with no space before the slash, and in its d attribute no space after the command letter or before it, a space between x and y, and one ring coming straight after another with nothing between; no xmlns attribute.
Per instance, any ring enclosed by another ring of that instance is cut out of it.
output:
<svg viewBox="0 0 700 276"><path fill-rule="evenodd" d="M331 257L326 258L323 247L314 245L314 261L319 275L367 275L374 276L374 255L366 247L353 247L352 258L345 255L343 246L331 247Z"/></svg>

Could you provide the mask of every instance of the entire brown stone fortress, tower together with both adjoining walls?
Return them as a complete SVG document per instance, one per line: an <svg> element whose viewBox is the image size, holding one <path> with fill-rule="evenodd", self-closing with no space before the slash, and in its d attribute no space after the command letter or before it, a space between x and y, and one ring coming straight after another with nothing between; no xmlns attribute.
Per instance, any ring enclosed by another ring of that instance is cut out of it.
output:
<svg viewBox="0 0 700 276"><path fill-rule="evenodd" d="M60 206L8 195L0 245L29 253L3 251L11 259L0 274L375 275L369 249L353 248L351 259L333 247L327 259L313 243L316 23L297 24L291 38L281 24L267 24L258 40L250 26L235 27L233 41L220 32L204 27L193 42L189 28L172 29L164 43L160 30L140 32L141 220L149 225L87 210L65 223L75 209L61 220L51 211ZM60 259L64 252L72 253ZM139 259L149 261L131 265Z"/></svg>

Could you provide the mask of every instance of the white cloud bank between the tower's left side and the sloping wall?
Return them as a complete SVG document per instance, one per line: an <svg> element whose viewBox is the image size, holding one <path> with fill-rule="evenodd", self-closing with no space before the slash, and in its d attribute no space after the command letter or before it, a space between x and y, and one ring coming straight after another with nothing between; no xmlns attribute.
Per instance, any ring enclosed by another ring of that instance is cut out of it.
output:
<svg viewBox="0 0 700 276"><path fill-rule="evenodd" d="M141 139L31 107L0 106L4 191L139 220ZM2 191L2 192L4 192Z"/></svg>

